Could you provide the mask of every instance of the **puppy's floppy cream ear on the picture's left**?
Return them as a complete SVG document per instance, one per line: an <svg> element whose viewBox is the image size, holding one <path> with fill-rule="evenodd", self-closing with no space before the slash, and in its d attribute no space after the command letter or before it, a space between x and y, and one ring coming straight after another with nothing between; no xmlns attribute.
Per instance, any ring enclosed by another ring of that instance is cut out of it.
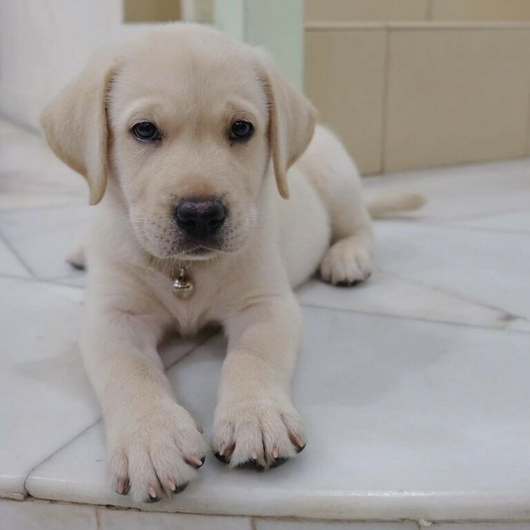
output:
<svg viewBox="0 0 530 530"><path fill-rule="evenodd" d="M99 53L41 114L53 152L86 178L90 205L103 198L107 182L106 95L114 59Z"/></svg>

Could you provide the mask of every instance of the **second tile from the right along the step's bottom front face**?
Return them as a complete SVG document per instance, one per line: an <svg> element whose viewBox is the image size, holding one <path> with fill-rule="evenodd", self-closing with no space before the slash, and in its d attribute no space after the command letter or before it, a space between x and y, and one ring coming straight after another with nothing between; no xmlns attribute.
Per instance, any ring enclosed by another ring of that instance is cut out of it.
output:
<svg viewBox="0 0 530 530"><path fill-rule="evenodd" d="M415 522L317 522L258 519L255 530L419 530L419 528Z"/></svg>

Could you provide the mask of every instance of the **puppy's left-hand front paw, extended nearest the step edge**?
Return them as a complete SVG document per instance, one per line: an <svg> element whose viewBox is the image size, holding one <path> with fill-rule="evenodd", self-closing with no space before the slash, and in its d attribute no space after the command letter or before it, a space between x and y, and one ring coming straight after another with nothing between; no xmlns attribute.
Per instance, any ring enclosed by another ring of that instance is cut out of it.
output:
<svg viewBox="0 0 530 530"><path fill-rule="evenodd" d="M175 402L150 406L107 425L108 467L121 495L156 502L186 489L204 463L206 444Z"/></svg>

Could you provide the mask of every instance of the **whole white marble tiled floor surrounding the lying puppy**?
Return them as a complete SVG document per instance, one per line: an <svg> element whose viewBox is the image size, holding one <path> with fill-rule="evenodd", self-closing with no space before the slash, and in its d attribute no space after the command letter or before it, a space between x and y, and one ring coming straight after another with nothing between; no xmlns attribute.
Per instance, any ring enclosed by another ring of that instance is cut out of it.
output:
<svg viewBox="0 0 530 530"><path fill-rule="evenodd" d="M63 262L85 185L32 133L0 123L0 139L0 496L25 498L0 501L0 529L530 529L530 160L366 179L429 204L377 222L363 286L300 289L306 451L268 473L208 458L184 493L141 506L187 514L148 513L101 506L132 504L106 481L77 353L84 274ZM163 352L207 428L223 351Z"/></svg>

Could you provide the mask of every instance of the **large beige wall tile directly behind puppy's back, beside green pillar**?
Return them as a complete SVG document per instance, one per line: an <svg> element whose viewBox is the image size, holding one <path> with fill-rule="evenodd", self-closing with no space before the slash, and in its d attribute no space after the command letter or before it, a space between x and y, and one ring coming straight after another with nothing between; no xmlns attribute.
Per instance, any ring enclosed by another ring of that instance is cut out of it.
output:
<svg viewBox="0 0 530 530"><path fill-rule="evenodd" d="M362 173L382 168L384 30L306 31L305 89Z"/></svg>

